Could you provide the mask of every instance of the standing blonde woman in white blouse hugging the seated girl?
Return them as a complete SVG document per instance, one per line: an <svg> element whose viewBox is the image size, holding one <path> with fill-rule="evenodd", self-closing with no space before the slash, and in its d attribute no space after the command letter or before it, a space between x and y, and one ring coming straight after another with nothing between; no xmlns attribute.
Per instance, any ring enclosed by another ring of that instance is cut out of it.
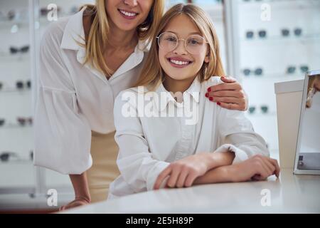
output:
<svg viewBox="0 0 320 228"><path fill-rule="evenodd" d="M163 11L164 0L97 0L44 33L34 162L70 175L75 200L61 209L105 200L119 175L114 98L137 81ZM213 102L247 108L235 81L211 90Z"/></svg>

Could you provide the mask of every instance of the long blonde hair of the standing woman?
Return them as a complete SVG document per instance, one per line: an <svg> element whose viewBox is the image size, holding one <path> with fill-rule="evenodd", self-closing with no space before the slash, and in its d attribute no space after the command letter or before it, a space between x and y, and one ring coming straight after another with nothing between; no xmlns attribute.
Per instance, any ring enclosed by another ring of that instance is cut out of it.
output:
<svg viewBox="0 0 320 228"><path fill-rule="evenodd" d="M146 41L147 43L154 37L156 26L164 13L164 1L154 0L146 21L137 27L140 41ZM105 58L103 58L103 51L110 36L105 0L96 0L95 5L86 4L81 7L81 9L83 8L86 8L85 14L93 17L87 40L85 40L85 44L80 44L85 47L86 51L84 64L89 63L98 71L110 76L112 75L112 70L105 63Z"/></svg>

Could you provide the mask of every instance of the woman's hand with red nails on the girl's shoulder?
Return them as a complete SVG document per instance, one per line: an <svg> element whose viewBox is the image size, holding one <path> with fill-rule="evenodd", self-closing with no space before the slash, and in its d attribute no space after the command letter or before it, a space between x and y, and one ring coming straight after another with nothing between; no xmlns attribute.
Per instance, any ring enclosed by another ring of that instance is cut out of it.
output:
<svg viewBox="0 0 320 228"><path fill-rule="evenodd" d="M222 108L241 111L247 110L247 95L245 91L242 90L240 83L231 77L221 77L221 81L224 83L208 88L206 97Z"/></svg>

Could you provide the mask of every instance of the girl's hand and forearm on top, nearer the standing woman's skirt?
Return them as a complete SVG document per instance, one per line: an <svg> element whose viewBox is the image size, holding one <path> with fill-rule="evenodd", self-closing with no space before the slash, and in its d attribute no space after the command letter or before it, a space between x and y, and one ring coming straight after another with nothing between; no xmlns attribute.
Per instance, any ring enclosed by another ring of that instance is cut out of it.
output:
<svg viewBox="0 0 320 228"><path fill-rule="evenodd" d="M154 190L159 190L167 177L169 179L166 187L190 187L194 180L204 175L211 166L210 153L199 153L173 162L160 173L154 184Z"/></svg>

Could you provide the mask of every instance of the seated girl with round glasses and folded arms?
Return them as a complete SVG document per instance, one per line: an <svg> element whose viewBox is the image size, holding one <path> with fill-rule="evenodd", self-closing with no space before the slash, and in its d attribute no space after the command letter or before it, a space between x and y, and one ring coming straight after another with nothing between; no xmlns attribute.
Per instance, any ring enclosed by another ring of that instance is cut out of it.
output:
<svg viewBox="0 0 320 228"><path fill-rule="evenodd" d="M222 83L213 76L224 72L204 11L192 4L174 6L156 38L138 87L122 91L114 103L121 175L109 198L279 176L277 161L245 115L205 98L208 87Z"/></svg>

